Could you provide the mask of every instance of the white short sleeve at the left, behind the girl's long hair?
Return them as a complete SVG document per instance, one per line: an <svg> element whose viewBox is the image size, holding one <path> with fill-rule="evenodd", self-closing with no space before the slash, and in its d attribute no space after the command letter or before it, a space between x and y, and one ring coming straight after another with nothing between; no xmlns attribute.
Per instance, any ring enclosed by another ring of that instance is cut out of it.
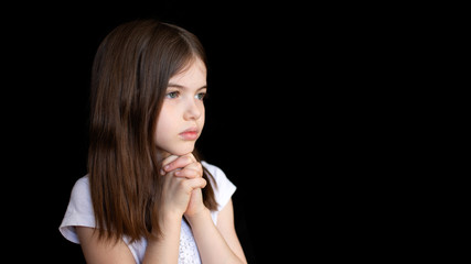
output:
<svg viewBox="0 0 471 264"><path fill-rule="evenodd" d="M58 228L64 238L78 244L79 241L75 231L76 226L95 228L95 215L87 176L79 178L75 183L67 210Z"/></svg>

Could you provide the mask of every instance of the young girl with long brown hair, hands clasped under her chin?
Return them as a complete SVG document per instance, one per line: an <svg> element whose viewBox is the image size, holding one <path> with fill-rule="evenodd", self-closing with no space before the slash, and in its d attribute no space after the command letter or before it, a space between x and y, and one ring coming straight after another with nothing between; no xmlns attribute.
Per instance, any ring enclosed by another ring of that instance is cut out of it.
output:
<svg viewBox="0 0 471 264"><path fill-rule="evenodd" d="M236 187L194 148L206 89L203 47L184 29L138 20L101 42L88 174L60 227L87 263L246 263Z"/></svg>

